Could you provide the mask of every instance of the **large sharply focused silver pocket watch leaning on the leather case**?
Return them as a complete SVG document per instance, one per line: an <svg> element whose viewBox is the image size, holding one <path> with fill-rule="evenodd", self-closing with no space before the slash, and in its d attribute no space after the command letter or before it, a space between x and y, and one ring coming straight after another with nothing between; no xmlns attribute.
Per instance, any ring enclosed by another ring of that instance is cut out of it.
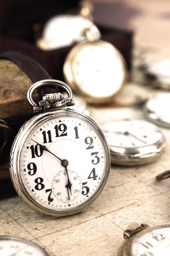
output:
<svg viewBox="0 0 170 256"><path fill-rule="evenodd" d="M38 107L32 93L44 85L57 85L68 97L46 94ZM90 117L67 108L74 105L72 97L61 81L33 84L27 98L39 113L22 126L11 149L15 190L30 207L51 217L86 210L104 188L110 170L102 131Z"/></svg>

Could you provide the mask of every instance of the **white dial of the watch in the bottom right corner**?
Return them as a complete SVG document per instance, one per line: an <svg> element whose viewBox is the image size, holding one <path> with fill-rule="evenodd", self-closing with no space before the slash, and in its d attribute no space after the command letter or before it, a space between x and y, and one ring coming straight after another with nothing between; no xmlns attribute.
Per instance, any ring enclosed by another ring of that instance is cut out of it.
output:
<svg viewBox="0 0 170 256"><path fill-rule="evenodd" d="M170 227L157 228L135 238L131 244L132 256L169 256Z"/></svg>

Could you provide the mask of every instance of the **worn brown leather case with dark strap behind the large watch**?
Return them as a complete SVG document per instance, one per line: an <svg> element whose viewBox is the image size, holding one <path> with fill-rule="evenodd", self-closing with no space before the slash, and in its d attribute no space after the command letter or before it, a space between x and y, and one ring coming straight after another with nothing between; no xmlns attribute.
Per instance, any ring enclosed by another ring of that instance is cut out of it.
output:
<svg viewBox="0 0 170 256"><path fill-rule="evenodd" d="M0 198L14 193L8 166L11 146L22 124L35 115L27 90L43 79L51 76L34 59L19 52L0 55ZM35 93L35 101L52 92L58 92L57 88L43 87Z"/></svg>

